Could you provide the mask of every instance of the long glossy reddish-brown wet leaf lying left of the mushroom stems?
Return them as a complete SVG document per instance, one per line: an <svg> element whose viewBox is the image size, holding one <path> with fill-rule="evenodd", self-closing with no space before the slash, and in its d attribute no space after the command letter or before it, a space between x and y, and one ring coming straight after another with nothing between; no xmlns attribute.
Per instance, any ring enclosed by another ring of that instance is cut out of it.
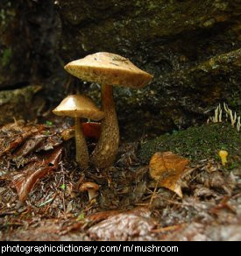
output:
<svg viewBox="0 0 241 256"><path fill-rule="evenodd" d="M62 147L56 147L52 153L46 153L43 160L36 160L28 164L11 181L11 187L16 188L20 201L24 202L28 194L39 179L58 167Z"/></svg>

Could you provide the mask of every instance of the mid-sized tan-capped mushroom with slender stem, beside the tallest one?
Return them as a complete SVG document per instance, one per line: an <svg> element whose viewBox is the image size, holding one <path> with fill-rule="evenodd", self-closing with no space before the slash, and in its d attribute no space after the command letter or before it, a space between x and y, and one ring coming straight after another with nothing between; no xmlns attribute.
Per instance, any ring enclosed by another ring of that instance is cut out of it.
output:
<svg viewBox="0 0 241 256"><path fill-rule="evenodd" d="M74 117L76 162L82 168L87 168L89 163L89 152L82 132L81 117L93 120L101 120L104 117L103 111L96 107L96 104L87 96L71 95L62 100L60 105L53 110L57 116Z"/></svg>

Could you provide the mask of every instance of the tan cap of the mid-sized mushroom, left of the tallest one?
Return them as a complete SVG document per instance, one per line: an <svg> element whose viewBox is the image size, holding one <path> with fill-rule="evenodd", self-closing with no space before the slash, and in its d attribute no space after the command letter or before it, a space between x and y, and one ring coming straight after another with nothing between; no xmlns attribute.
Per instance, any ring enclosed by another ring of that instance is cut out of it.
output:
<svg viewBox="0 0 241 256"><path fill-rule="evenodd" d="M89 97L82 95L67 96L53 110L53 114L67 117L85 117L96 121L104 117L103 111L99 110Z"/></svg>

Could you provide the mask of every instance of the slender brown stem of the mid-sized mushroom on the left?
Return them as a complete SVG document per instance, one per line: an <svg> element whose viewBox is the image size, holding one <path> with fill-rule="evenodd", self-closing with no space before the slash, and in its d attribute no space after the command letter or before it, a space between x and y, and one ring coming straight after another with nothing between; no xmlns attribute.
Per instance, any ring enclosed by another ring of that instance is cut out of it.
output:
<svg viewBox="0 0 241 256"><path fill-rule="evenodd" d="M76 162L79 163L83 169L88 167L89 152L82 132L81 118L74 117L75 127L75 145L76 145Z"/></svg>

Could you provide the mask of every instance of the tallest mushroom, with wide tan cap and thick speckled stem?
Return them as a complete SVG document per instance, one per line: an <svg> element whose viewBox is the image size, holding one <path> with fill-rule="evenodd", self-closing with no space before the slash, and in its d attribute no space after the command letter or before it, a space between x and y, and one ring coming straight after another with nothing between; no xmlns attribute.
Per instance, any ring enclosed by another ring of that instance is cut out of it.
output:
<svg viewBox="0 0 241 256"><path fill-rule="evenodd" d="M88 82L102 85L101 136L92 153L96 167L110 167L116 157L119 144L119 127L113 99L113 85L141 89L152 80L152 75L137 68L130 60L114 53L95 53L69 62L65 69Z"/></svg>

